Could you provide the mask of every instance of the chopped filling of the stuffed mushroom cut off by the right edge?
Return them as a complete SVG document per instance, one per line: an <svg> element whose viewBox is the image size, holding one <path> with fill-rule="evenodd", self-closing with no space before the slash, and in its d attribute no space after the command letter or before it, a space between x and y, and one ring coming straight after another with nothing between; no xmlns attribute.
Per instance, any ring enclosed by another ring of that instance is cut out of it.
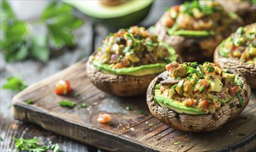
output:
<svg viewBox="0 0 256 152"><path fill-rule="evenodd" d="M256 23L240 27L220 46L219 55L234 57L246 64L256 64Z"/></svg>

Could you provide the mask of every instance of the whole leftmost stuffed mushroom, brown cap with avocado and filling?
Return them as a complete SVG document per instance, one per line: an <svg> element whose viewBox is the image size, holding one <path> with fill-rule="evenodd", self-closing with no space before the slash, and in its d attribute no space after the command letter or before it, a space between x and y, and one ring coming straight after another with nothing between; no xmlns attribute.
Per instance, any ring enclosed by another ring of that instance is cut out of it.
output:
<svg viewBox="0 0 256 152"><path fill-rule="evenodd" d="M145 28L133 26L109 35L87 61L90 81L102 91L121 97L146 93L176 51Z"/></svg>

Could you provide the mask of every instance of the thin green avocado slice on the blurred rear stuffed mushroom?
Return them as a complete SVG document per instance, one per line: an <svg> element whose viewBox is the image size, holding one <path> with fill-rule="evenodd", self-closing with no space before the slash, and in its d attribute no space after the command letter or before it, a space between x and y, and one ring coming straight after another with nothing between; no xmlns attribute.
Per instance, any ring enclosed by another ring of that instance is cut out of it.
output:
<svg viewBox="0 0 256 152"><path fill-rule="evenodd" d="M170 31L168 30L169 35L180 35L183 37L210 37L214 36L215 32L212 30L177 30L177 31Z"/></svg>

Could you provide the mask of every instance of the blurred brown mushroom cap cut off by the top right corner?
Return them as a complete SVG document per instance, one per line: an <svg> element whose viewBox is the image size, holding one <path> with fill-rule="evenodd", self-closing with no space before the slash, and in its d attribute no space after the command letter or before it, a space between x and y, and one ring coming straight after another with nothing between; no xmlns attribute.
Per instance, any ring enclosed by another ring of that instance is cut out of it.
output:
<svg viewBox="0 0 256 152"><path fill-rule="evenodd" d="M256 1L243 1L243 0L217 0L221 6L228 12L234 12L241 19L244 24L254 23L256 21Z"/></svg>

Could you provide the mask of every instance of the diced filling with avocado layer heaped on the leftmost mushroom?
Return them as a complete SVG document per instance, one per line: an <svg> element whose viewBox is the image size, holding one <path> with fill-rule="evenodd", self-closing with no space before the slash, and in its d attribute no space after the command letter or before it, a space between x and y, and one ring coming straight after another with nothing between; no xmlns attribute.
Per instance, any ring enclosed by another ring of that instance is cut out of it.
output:
<svg viewBox="0 0 256 152"><path fill-rule="evenodd" d="M90 57L94 66L114 74L126 74L133 70L146 70L145 74L160 73L166 64L176 59L176 51L171 46L158 41L156 35L138 26L109 35L103 46ZM157 69L148 72L151 68Z"/></svg>

